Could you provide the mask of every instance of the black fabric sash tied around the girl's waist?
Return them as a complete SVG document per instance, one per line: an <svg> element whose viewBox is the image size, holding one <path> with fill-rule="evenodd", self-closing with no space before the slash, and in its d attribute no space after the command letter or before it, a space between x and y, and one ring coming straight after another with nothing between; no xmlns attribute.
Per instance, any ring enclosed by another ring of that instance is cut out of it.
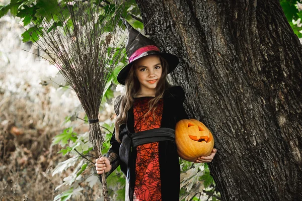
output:
<svg viewBox="0 0 302 201"><path fill-rule="evenodd" d="M124 130L125 131L125 130ZM160 141L174 141L175 142L175 130L170 128L157 128L137 133L130 134L125 133L122 139L122 143L119 148L119 157L122 162L128 166L128 161L131 153L131 146L137 147L138 145L160 142Z"/></svg>

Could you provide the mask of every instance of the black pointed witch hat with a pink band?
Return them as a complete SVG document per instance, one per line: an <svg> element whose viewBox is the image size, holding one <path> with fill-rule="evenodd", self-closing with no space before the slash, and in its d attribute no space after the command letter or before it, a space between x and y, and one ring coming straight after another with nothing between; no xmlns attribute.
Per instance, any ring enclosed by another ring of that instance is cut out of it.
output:
<svg viewBox="0 0 302 201"><path fill-rule="evenodd" d="M155 42L140 34L125 19L121 18L121 20L128 30L126 54L128 56L129 63L125 67L123 67L117 75L117 81L120 84L125 85L125 80L133 62L144 56L155 54L161 55L164 59L167 60L169 64L168 74L176 68L179 63L179 59L176 55L161 52L160 48L157 44L155 44Z"/></svg>

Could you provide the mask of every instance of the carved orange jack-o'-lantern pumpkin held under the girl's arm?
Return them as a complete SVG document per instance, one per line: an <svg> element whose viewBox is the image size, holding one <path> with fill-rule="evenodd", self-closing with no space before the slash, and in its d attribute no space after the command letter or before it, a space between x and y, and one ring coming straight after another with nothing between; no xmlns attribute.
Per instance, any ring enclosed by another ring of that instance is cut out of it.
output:
<svg viewBox="0 0 302 201"><path fill-rule="evenodd" d="M213 135L195 119L183 119L175 127L175 142L180 158L194 162L200 156L208 156L214 147Z"/></svg>

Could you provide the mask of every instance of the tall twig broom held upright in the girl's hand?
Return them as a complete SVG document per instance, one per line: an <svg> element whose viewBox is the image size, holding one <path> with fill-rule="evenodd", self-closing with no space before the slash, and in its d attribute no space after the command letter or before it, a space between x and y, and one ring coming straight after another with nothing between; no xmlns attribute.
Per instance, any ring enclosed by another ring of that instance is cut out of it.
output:
<svg viewBox="0 0 302 201"><path fill-rule="evenodd" d="M44 27L36 27L36 42L49 57L42 58L59 69L79 97L89 119L89 141L101 157L104 138L98 114L107 80L123 56L116 50L124 46L118 26L124 9L123 3L110 4L105 12L99 2L67 1L59 15L39 22ZM104 200L109 200L105 174L101 176Z"/></svg>

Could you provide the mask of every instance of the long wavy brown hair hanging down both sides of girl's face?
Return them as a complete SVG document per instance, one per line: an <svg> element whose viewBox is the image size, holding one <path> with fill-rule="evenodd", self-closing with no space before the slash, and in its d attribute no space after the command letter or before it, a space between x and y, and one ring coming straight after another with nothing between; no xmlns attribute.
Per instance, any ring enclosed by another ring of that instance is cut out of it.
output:
<svg viewBox="0 0 302 201"><path fill-rule="evenodd" d="M163 71L160 80L155 88L155 97L150 99L148 102L149 110L146 114L148 114L151 110L153 110L153 115L155 115L154 112L157 108L157 103L159 102L160 98L164 96L165 89L171 86L167 79L168 68L169 68L168 62L160 55L159 58L162 64ZM119 107L118 108L119 113L117 114L117 117L114 122L115 138L118 142L121 142L121 139L119 138L119 126L122 124L126 124L127 112L132 107L134 102L133 96L138 91L140 86L138 79L134 75L135 75L135 62L131 66L131 69L129 70L129 73L125 80L125 87L123 93L120 95L119 98L115 100L115 105Z"/></svg>

